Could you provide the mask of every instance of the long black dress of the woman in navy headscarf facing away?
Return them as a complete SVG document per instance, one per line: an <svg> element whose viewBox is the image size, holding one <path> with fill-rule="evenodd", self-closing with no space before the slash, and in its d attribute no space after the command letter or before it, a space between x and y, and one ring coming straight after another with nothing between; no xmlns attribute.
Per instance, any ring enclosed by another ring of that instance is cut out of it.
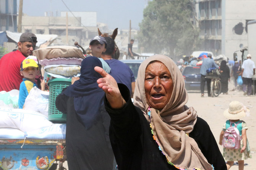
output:
<svg viewBox="0 0 256 170"><path fill-rule="evenodd" d="M86 104L86 103L85 103ZM112 170L113 151L109 141L110 117L104 106L100 118L89 129L76 114L74 97L60 94L56 106L67 114L66 153L70 170Z"/></svg>

